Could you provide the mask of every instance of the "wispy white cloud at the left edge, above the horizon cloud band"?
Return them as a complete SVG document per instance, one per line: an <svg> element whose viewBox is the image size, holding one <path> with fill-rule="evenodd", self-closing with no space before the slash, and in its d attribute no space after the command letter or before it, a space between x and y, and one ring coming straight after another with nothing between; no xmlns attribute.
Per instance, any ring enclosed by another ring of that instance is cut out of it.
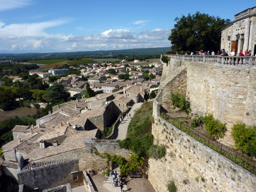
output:
<svg viewBox="0 0 256 192"><path fill-rule="evenodd" d="M14 23L5 25L0 22L0 37L41 37L49 36L44 29L66 23L64 20L50 20L40 23Z"/></svg>

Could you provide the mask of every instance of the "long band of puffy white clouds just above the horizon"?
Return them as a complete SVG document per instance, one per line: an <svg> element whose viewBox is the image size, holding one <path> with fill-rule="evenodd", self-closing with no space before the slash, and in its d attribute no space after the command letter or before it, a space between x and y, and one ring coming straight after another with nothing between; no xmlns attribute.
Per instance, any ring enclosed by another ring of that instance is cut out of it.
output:
<svg viewBox="0 0 256 192"><path fill-rule="evenodd" d="M1 29L0 29L1 31ZM41 30L42 33L42 30ZM43 33L42 33L43 34ZM170 29L143 29L133 33L128 29L109 29L90 36L13 36L0 35L0 52L63 52L110 49L153 48L169 46Z"/></svg>

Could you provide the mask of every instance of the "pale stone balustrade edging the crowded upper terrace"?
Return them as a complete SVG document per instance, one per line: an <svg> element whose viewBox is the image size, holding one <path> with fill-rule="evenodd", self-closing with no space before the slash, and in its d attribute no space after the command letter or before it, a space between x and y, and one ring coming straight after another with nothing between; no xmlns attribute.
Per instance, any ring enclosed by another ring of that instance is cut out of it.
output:
<svg viewBox="0 0 256 192"><path fill-rule="evenodd" d="M233 66L256 66L256 57L220 56L220 55L165 55L181 61L217 63Z"/></svg>

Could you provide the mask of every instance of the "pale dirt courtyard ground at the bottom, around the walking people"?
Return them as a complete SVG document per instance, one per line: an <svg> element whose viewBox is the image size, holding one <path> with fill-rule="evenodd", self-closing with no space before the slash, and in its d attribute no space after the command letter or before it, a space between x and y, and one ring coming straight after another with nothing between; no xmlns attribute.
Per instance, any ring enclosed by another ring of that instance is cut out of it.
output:
<svg viewBox="0 0 256 192"><path fill-rule="evenodd" d="M107 181L107 177L105 175L94 175L92 176L92 180L96 185L98 192L120 191L120 188L114 187L113 184L104 184L104 181ZM155 192L154 188L152 187L148 179L143 178L131 179L130 181L128 181L125 188L125 192Z"/></svg>

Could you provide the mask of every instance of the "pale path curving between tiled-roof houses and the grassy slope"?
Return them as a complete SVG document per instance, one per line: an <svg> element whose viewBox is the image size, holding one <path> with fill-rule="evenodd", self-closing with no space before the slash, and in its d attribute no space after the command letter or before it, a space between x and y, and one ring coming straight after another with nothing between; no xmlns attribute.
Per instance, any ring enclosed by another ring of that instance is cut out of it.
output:
<svg viewBox="0 0 256 192"><path fill-rule="evenodd" d="M138 104L134 104L133 107L131 108L130 114L131 114L131 118L134 116L134 113L137 109L139 109L140 107L142 107L143 103L138 103ZM127 134L127 129L128 129L128 125L130 124L131 119L129 119L129 117L126 119L123 119L123 122L118 126L116 134L114 139L116 140L124 140L126 138L126 134Z"/></svg>

